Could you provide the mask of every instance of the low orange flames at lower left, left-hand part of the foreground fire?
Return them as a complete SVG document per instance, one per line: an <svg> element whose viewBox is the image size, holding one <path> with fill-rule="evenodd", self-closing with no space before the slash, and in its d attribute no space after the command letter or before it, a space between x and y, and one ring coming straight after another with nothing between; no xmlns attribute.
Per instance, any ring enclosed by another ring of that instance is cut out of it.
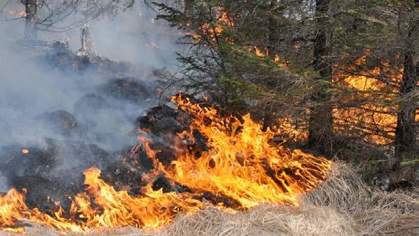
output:
<svg viewBox="0 0 419 236"><path fill-rule="evenodd" d="M70 207L70 219L63 217L61 207L54 212L54 217L40 212L37 208L29 210L24 203L24 194L11 189L5 196L0 196L1 230L23 232L22 228L13 228L18 221L31 221L58 230L70 230L77 233L87 232L89 228L136 226L158 228L178 212L192 213L203 203L191 198L191 194L163 193L145 187L143 196L129 196L127 191L116 191L99 178L100 170L89 168L86 176L86 193L74 196ZM59 206L59 203L56 203Z"/></svg>

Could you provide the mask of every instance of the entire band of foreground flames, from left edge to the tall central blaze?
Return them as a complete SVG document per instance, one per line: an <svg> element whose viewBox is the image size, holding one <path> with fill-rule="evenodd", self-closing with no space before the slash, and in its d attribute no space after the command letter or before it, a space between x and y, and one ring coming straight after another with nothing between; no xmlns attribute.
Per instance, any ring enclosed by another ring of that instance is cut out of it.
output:
<svg viewBox="0 0 419 236"><path fill-rule="evenodd" d="M0 229L24 232L19 221L30 221L51 226L57 230L85 233L92 228L116 228L135 226L159 228L173 221L179 214L193 214L204 207L203 199L210 193L216 198L214 204L226 210L247 210L262 203L289 203L299 205L299 196L326 179L331 162L302 152L289 150L271 141L277 134L261 125L249 115L236 118L221 116L214 107L201 107L187 97L172 97L178 109L192 116L190 131L173 136L176 158L164 166L153 150L147 132L139 130L139 145L152 159L154 170L143 175L147 182L139 196L127 191L117 191L100 178L101 171L88 168L84 171L86 191L72 196L70 212L65 214L59 203L58 210L46 214L38 208L32 210L24 203L26 190L19 193L10 189L0 196ZM200 150L194 155L188 150L185 139L193 140L193 131L207 138L209 150ZM152 189L157 176L164 175L190 191L167 192ZM213 203L213 202L212 202Z"/></svg>

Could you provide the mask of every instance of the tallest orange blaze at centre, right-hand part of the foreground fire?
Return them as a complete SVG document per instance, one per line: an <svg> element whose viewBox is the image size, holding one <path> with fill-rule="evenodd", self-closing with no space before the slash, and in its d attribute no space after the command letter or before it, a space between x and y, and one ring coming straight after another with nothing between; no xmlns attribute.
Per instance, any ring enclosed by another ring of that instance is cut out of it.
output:
<svg viewBox="0 0 419 236"><path fill-rule="evenodd" d="M260 203L298 205L297 196L326 178L330 162L301 150L270 145L275 133L262 132L249 115L242 117L242 123L181 97L173 101L196 117L193 128L209 137L211 146L198 159L185 153L174 162L168 175L176 182L228 196L248 209Z"/></svg>

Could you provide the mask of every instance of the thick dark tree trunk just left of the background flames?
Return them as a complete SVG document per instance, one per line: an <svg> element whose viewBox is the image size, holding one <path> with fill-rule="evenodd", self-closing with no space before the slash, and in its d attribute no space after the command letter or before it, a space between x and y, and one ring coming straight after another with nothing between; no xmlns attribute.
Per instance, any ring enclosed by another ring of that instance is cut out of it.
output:
<svg viewBox="0 0 419 236"><path fill-rule="evenodd" d="M310 107L310 120L308 128L308 144L324 155L332 155L333 118L331 95L327 93L331 85L332 67L329 61L331 54L331 26L329 24L328 10L330 0L317 0L315 17L317 24L317 35L314 40L313 68L319 72L316 89L312 97L313 105Z"/></svg>

